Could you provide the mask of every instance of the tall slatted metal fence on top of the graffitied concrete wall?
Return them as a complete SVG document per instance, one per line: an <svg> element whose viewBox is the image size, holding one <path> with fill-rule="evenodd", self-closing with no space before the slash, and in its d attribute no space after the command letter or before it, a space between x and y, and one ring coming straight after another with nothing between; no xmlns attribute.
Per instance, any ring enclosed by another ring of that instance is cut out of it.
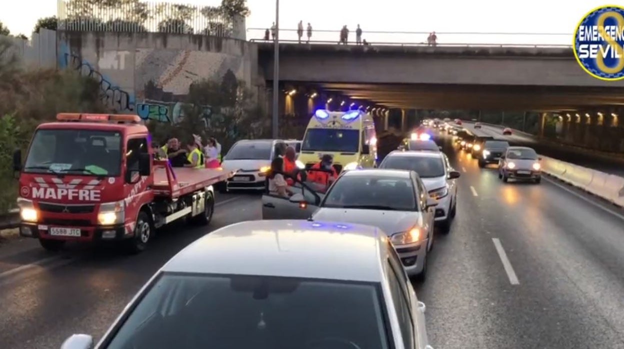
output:
<svg viewBox="0 0 624 349"><path fill-rule="evenodd" d="M214 6L118 0L57 0L59 30L166 32L246 39L245 18L230 17ZM100 2L101 3L101 2Z"/></svg>

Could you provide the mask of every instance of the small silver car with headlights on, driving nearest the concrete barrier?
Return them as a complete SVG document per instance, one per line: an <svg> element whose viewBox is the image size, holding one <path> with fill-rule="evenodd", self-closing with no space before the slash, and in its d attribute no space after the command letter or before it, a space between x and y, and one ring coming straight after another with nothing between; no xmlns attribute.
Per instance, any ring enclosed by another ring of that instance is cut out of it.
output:
<svg viewBox="0 0 624 349"><path fill-rule="evenodd" d="M539 184L542 181L542 158L529 147L509 147L499 160L499 179L524 180Z"/></svg>

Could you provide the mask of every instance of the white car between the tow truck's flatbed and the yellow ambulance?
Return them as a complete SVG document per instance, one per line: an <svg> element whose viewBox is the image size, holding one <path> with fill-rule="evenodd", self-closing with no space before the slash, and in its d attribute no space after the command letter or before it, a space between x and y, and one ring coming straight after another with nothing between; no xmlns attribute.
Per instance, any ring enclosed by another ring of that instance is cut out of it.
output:
<svg viewBox="0 0 624 349"><path fill-rule="evenodd" d="M232 145L221 166L240 170L221 189L264 190L266 174L276 157L276 147L281 143L285 142L278 139L245 139Z"/></svg>

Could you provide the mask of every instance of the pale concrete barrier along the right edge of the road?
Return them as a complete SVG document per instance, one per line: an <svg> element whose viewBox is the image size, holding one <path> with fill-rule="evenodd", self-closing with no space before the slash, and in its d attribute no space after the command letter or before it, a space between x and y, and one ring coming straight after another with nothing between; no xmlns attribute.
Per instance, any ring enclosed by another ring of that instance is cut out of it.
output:
<svg viewBox="0 0 624 349"><path fill-rule="evenodd" d="M624 178L552 157L540 156L542 157L542 172L605 199L613 205L624 207Z"/></svg>

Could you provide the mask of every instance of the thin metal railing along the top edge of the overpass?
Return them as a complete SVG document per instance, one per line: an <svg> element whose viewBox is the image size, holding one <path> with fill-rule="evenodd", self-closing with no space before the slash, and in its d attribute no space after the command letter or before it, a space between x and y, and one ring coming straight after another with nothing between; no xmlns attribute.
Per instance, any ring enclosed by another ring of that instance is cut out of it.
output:
<svg viewBox="0 0 624 349"><path fill-rule="evenodd" d="M270 28L248 28L250 41L266 42L265 31ZM297 29L280 29L280 42L298 43ZM429 46L429 32L408 31L364 31L362 39L371 46ZM436 46L444 47L572 47L572 33L536 32L436 32ZM313 29L310 44L339 44L339 30ZM350 29L348 44L356 44L353 28ZM301 42L308 42L304 28Z"/></svg>

